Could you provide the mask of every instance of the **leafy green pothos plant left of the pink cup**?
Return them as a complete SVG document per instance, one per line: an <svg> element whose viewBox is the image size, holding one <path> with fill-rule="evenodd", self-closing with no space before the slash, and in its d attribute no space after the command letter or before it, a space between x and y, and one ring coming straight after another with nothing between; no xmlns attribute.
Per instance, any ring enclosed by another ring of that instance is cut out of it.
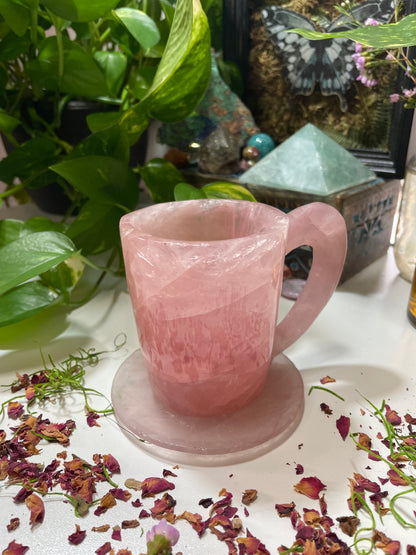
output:
<svg viewBox="0 0 416 555"><path fill-rule="evenodd" d="M13 141L13 130L23 124L30 135L0 163L0 180L8 185L0 201L57 180L73 188L78 208L75 218L58 223L46 217L0 222L0 326L57 303L71 306L78 299L77 306L93 295L105 272L122 273L118 223L136 208L137 174L145 171L129 167L130 147L152 119L185 118L206 90L210 32L200 1L139 4L143 9L136 1L0 0L0 130ZM46 36L51 26L54 32ZM28 126L21 108L30 95L52 101L52 121L29 110ZM57 126L75 95L118 109L90 116L90 135L69 145ZM173 167L159 166L172 178ZM178 174L176 179L183 181ZM175 198L173 181L156 201ZM213 196L218 194L226 194L223 186L214 187ZM94 256L103 253L106 262L98 266ZM86 266L99 274L79 299Z"/></svg>

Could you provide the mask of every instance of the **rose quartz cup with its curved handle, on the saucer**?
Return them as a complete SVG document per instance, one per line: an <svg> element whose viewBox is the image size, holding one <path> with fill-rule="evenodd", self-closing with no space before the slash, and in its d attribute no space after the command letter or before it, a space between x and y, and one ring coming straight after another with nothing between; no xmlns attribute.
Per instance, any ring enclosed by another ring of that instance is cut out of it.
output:
<svg viewBox="0 0 416 555"><path fill-rule="evenodd" d="M120 232L153 392L189 416L227 414L259 395L272 358L330 298L346 251L343 217L321 203L289 214L237 200L156 204L123 216ZM301 245L313 248L312 268L276 327L285 254Z"/></svg>

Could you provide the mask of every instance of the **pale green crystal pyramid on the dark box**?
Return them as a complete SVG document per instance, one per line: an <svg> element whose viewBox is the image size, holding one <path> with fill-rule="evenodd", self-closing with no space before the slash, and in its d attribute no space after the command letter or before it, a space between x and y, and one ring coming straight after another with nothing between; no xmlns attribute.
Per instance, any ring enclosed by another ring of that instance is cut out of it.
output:
<svg viewBox="0 0 416 555"><path fill-rule="evenodd" d="M326 196L376 179L348 150L308 123L244 172L239 181Z"/></svg>

